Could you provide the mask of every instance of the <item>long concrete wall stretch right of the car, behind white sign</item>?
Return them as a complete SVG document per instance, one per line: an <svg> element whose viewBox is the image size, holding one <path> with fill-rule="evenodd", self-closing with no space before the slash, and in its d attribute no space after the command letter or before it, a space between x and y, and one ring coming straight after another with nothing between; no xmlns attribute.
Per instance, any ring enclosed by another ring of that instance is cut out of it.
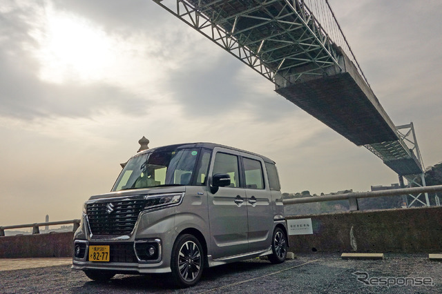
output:
<svg viewBox="0 0 442 294"><path fill-rule="evenodd" d="M442 253L442 206L354 211L311 218L312 235L290 235L292 252Z"/></svg>

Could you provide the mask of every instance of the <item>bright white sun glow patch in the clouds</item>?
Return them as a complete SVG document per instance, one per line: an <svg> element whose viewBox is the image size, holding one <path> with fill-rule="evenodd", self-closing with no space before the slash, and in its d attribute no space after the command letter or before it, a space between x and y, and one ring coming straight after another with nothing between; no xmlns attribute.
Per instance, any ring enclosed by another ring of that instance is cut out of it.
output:
<svg viewBox="0 0 442 294"><path fill-rule="evenodd" d="M73 14L49 9L35 37L40 45L39 76L46 81L95 81L105 75L113 62L115 40L93 23Z"/></svg>

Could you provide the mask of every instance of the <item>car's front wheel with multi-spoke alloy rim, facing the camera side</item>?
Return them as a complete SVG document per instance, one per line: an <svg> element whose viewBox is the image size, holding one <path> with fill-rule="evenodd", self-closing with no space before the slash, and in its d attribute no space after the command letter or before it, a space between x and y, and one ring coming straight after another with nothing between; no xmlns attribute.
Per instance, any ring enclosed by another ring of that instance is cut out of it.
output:
<svg viewBox="0 0 442 294"><path fill-rule="evenodd" d="M173 282L180 288L193 286L204 269L204 251L198 239L189 234L177 237L172 248L171 270Z"/></svg>

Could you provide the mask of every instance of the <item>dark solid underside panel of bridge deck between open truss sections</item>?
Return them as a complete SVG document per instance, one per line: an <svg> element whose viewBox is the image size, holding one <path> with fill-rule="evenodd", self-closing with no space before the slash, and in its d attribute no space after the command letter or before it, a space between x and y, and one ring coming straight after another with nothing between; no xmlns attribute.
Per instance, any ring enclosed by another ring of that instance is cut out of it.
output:
<svg viewBox="0 0 442 294"><path fill-rule="evenodd" d="M398 139L348 72L276 92L358 146Z"/></svg>

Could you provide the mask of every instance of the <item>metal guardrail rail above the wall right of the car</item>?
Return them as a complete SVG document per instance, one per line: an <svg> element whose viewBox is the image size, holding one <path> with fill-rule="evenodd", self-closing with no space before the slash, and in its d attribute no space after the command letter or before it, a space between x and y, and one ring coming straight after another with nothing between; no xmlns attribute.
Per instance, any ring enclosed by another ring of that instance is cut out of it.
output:
<svg viewBox="0 0 442 294"><path fill-rule="evenodd" d="M304 204L304 203L312 203L312 202L326 202L326 201L334 201L334 200L348 200L349 204L350 204L349 210L354 211L354 210L359 210L358 198L400 196L400 195L433 193L433 192L442 192L442 185L394 189L394 190L380 190L380 191L372 191L372 192L345 193L345 194L337 194L337 195L323 195L323 196L316 196L316 197L303 197L303 198L294 198L294 199L283 199L282 203L284 205L289 205L289 204Z"/></svg>

